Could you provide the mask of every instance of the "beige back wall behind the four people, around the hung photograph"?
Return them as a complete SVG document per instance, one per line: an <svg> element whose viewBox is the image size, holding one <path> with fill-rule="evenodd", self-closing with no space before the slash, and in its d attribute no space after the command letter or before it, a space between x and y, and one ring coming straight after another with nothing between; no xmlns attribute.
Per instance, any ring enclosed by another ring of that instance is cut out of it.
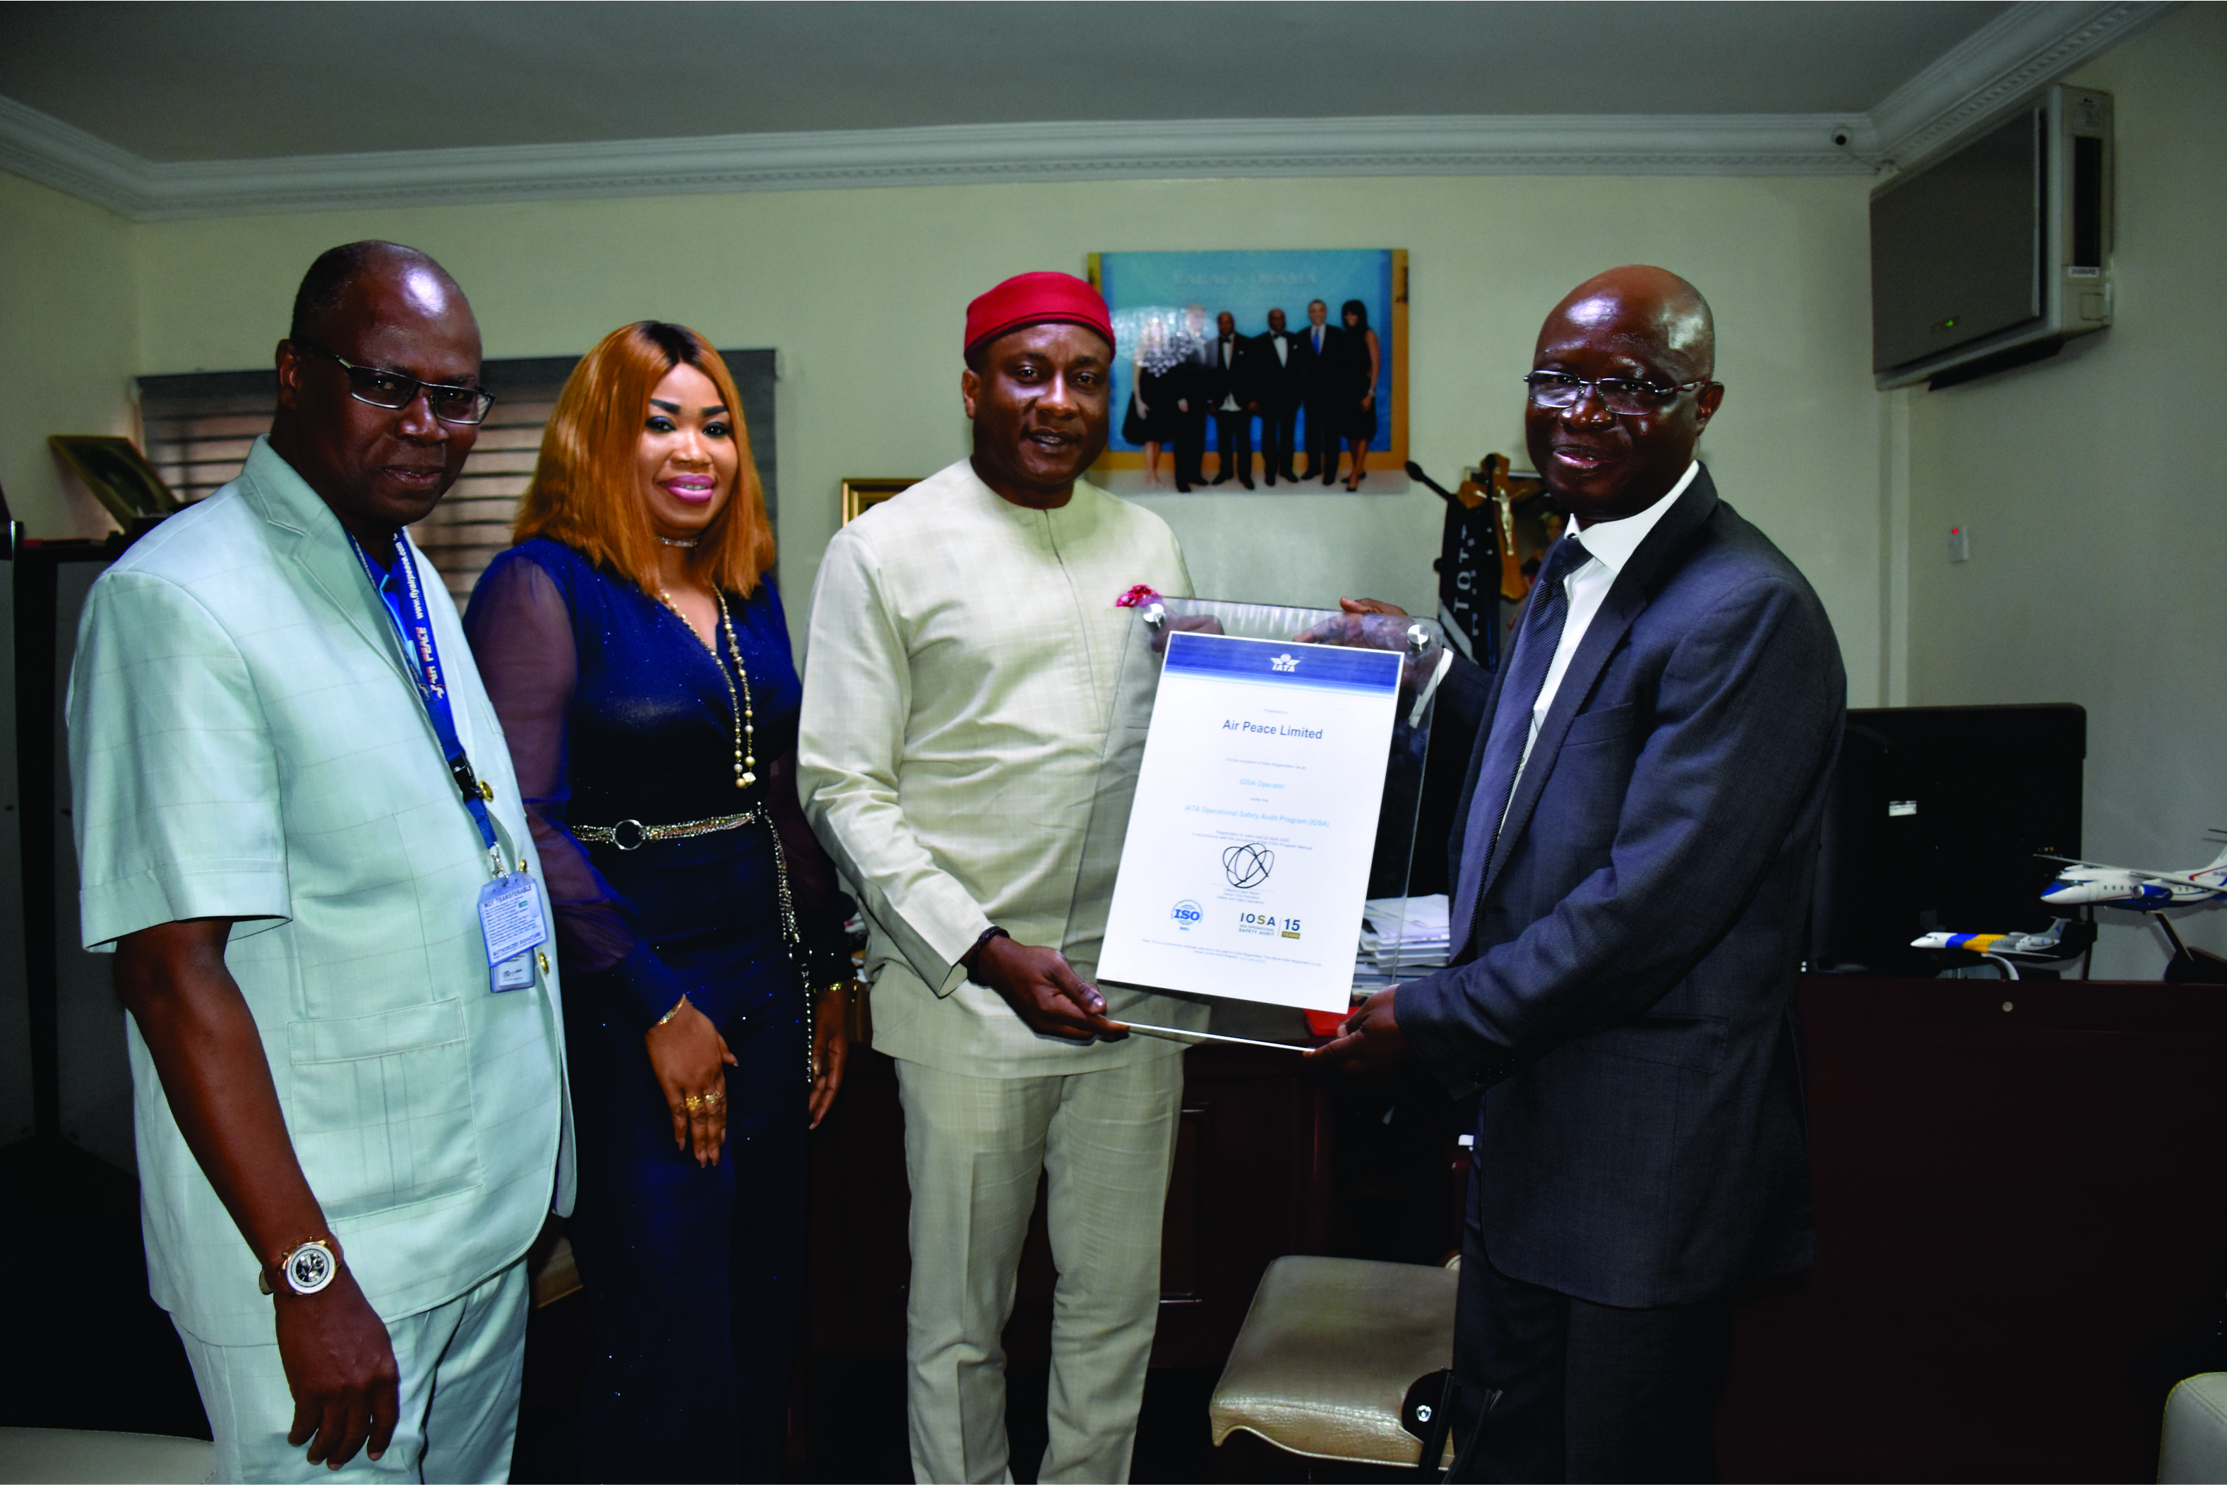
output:
<svg viewBox="0 0 2227 1485"><path fill-rule="evenodd" d="M1862 178L1183 180L118 223L138 245L138 347L107 363L100 396L76 416L125 416L127 372L267 363L307 260L394 236L457 274L492 356L579 352L653 314L719 345L779 347L782 579L802 621L837 481L926 474L967 452L960 321L1009 272L1080 272L1093 249L1407 247L1412 452L1450 479L1488 450L1523 463L1517 376L1554 298L1595 269L1652 260L1717 305L1730 396L1704 456L1817 583L1853 695L1868 701L1882 523L1864 194ZM1802 430L1797 448L1788 427ZM1203 592L1434 603L1441 503L1425 490L1151 503L1185 539ZM38 530L53 514L33 505L31 519Z"/></svg>

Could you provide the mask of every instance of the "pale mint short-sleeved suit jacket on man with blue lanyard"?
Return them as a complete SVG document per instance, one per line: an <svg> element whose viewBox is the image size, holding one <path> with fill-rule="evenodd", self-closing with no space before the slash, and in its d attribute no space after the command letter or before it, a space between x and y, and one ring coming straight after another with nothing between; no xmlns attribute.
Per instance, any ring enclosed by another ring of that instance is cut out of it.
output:
<svg viewBox="0 0 2227 1485"><path fill-rule="evenodd" d="M503 855L539 891L501 724L454 603L416 563ZM485 846L347 534L265 441L94 583L69 766L85 946L241 919L225 966L383 1318L463 1294L526 1251L552 1202L570 1209L555 955L532 986L490 991ZM154 1298L200 1340L267 1345L256 1256L136 1024L129 1049Z"/></svg>

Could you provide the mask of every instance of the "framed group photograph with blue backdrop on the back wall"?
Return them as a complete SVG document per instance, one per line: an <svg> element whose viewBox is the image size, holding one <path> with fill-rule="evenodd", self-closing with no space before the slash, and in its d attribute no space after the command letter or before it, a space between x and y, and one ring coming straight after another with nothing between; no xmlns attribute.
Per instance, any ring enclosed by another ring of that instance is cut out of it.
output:
<svg viewBox="0 0 2227 1485"><path fill-rule="evenodd" d="M1114 436L1100 470L1145 470L1147 443L1158 443L1162 472L1154 490L1174 490L1167 465L1174 443L1185 436L1183 419L1191 419L1187 436L1200 439L1207 450L1200 472L1209 479L1223 474L1223 427L1238 432L1238 419L1211 416L1223 407L1220 399L1232 396L1218 336L1218 321L1229 314L1249 352L1243 383L1254 396L1247 401L1258 403L1243 427L1252 470L1240 474L1265 479L1265 450L1276 443L1269 419L1281 414L1292 430L1287 459L1301 472L1307 472L1301 450L1314 443L1312 419L1330 448L1345 454L1345 463L1334 468L1350 472L1352 448L1365 441L1367 468L1379 472L1376 488L1405 490L1407 249L1105 252L1091 254L1089 278L1114 312L1120 343L1114 358ZM1285 332L1303 336L1314 303L1321 303L1325 332L1332 332L1325 334L1330 350L1321 363L1307 354L1303 365L1289 367L1267 341L1269 312L1281 309ZM1196 387L1209 387L1209 407L1178 414L1160 405L1191 401L1178 394ZM1147 390L1142 399L1140 390ZM1367 494L1370 481L1358 490Z"/></svg>

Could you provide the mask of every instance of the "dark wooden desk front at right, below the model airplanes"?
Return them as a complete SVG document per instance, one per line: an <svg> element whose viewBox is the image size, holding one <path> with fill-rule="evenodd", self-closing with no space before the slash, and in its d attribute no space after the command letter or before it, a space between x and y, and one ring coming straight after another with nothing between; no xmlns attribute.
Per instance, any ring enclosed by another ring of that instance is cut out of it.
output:
<svg viewBox="0 0 2227 1485"><path fill-rule="evenodd" d="M1728 1481L2149 1481L2223 1365L2227 991L1806 980L1817 1267L1742 1309Z"/></svg>

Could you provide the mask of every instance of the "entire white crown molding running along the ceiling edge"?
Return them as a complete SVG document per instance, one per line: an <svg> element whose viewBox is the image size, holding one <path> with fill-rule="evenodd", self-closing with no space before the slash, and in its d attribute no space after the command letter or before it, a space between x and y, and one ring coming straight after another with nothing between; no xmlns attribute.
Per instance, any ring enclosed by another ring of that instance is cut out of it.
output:
<svg viewBox="0 0 2227 1485"><path fill-rule="evenodd" d="M1116 120L145 160L0 98L0 169L134 220L873 185L1196 176L1813 176L1906 163L2174 9L2029 0L1868 116ZM1837 142L1844 140L1844 142Z"/></svg>

